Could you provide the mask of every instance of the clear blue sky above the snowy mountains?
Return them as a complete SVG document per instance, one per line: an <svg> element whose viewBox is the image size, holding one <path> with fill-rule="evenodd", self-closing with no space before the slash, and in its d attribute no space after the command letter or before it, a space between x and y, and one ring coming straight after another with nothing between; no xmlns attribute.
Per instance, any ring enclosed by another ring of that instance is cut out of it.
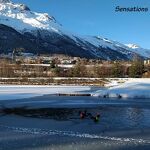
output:
<svg viewBox="0 0 150 150"><path fill-rule="evenodd" d="M53 15L64 28L150 48L150 0L13 0ZM117 13L116 6L148 7L144 13Z"/></svg>

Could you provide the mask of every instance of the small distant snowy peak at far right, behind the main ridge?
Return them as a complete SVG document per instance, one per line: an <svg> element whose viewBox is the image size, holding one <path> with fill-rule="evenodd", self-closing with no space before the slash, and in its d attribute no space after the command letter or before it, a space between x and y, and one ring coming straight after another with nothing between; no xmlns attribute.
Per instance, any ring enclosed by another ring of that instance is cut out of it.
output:
<svg viewBox="0 0 150 150"><path fill-rule="evenodd" d="M135 45L135 44L126 44L126 46L128 46L131 51L138 53L143 57L150 58L150 49L144 49L144 48L141 48L140 46Z"/></svg>

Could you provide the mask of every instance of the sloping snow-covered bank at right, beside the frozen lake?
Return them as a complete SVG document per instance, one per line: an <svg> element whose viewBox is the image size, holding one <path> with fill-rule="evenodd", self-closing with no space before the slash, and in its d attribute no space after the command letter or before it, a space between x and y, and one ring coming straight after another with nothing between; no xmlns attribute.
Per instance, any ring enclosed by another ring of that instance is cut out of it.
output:
<svg viewBox="0 0 150 150"><path fill-rule="evenodd" d="M150 78L128 79L125 83L112 86L106 90L96 91L93 96L110 98L150 98ZM111 85L111 83L109 84Z"/></svg>

